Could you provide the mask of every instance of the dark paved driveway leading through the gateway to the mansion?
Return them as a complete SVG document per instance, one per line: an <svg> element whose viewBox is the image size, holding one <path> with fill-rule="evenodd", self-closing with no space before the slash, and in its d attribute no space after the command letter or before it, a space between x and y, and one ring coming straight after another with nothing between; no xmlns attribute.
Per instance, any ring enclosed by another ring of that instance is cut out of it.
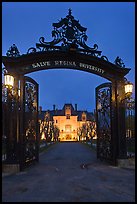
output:
<svg viewBox="0 0 137 204"><path fill-rule="evenodd" d="M2 201L135 202L135 171L97 161L84 144L57 143L39 164L2 178Z"/></svg>

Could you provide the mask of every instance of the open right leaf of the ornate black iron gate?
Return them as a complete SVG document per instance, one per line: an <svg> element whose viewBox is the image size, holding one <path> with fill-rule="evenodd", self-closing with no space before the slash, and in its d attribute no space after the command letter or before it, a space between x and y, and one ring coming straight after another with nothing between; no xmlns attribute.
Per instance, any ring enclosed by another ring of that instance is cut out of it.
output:
<svg viewBox="0 0 137 204"><path fill-rule="evenodd" d="M115 164L111 99L111 83L96 87L97 158Z"/></svg>

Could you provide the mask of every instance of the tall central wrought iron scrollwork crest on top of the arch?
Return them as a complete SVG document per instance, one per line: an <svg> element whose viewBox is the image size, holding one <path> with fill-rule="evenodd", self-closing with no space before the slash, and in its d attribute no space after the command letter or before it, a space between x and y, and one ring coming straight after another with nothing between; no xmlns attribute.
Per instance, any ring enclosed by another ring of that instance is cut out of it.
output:
<svg viewBox="0 0 137 204"><path fill-rule="evenodd" d="M65 18L61 18L58 23L52 25L54 27L52 31L54 39L46 42L44 37L40 37L39 43L36 43L36 48L29 48L27 54L36 52L39 49L39 51L75 50L91 56L101 56L102 51L98 50L97 44L94 44L92 48L86 44L88 39L86 35L87 28L81 26L79 21L74 19L71 9L69 9L69 13ZM106 56L101 58L108 61Z"/></svg>

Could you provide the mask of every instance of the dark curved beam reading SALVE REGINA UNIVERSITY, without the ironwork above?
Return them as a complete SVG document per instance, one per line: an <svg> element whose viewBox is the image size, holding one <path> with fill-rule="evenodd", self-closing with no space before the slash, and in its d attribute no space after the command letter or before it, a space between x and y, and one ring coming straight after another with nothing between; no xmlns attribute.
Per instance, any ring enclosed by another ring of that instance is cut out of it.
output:
<svg viewBox="0 0 137 204"><path fill-rule="evenodd" d="M110 81L122 79L129 68L116 66L115 64L78 53L77 51L45 51L23 54L19 57L2 57L5 68L11 74L25 75L40 70L69 68L93 73Z"/></svg>

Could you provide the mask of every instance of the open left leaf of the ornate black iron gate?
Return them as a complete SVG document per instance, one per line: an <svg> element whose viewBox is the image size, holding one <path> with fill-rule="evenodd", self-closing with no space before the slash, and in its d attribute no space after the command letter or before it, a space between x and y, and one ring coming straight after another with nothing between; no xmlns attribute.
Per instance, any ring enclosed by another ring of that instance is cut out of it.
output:
<svg viewBox="0 0 137 204"><path fill-rule="evenodd" d="M24 77L23 91L23 160L24 167L39 160L38 84Z"/></svg>

